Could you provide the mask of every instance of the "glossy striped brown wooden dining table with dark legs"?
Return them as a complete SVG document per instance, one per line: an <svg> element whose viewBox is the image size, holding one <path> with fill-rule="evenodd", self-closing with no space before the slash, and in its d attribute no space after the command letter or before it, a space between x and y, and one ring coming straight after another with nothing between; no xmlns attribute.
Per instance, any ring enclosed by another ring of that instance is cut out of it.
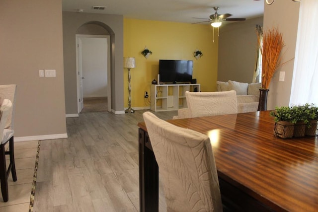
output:
<svg viewBox="0 0 318 212"><path fill-rule="evenodd" d="M318 212L317 136L276 137L270 111L167 122L210 138L224 211ZM160 170L138 126L140 212L158 212Z"/></svg>

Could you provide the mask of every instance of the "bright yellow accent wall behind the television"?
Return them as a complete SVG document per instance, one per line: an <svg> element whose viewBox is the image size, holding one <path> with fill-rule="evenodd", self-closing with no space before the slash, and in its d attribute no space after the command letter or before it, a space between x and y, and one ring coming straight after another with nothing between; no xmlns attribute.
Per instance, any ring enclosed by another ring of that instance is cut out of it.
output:
<svg viewBox="0 0 318 212"><path fill-rule="evenodd" d="M146 59L141 52L147 47L153 52ZM198 49L203 57L196 60ZM201 91L216 91L218 72L218 36L211 25L165 21L124 19L124 57L135 57L131 69L132 108L146 108L144 92L151 94L151 82L157 80L159 60L193 60L193 78ZM124 107L128 107L128 70L124 69ZM151 96L150 96L151 98Z"/></svg>

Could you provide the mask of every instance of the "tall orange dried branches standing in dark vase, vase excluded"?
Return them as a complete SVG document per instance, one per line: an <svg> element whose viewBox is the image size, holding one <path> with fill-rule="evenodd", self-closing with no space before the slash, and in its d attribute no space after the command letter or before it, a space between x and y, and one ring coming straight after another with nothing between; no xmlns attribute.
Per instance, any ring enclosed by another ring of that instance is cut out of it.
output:
<svg viewBox="0 0 318 212"><path fill-rule="evenodd" d="M275 71L281 66L280 53L284 47L283 35L272 28L264 32L262 47L262 88L268 89Z"/></svg>

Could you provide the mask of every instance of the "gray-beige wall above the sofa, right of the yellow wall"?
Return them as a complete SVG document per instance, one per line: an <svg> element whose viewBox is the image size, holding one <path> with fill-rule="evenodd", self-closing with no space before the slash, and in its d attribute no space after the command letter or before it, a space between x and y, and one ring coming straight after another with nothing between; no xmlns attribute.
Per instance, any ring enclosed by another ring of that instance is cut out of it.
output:
<svg viewBox="0 0 318 212"><path fill-rule="evenodd" d="M263 26L263 17L220 27L219 81L252 82L257 47L256 24Z"/></svg>

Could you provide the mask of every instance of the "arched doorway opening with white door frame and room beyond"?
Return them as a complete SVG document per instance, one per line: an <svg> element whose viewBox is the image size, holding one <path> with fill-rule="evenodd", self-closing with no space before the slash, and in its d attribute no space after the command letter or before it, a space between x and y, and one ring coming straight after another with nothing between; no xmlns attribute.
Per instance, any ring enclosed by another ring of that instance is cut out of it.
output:
<svg viewBox="0 0 318 212"><path fill-rule="evenodd" d="M78 113L111 111L109 34L107 27L100 22L85 23L77 30Z"/></svg>

